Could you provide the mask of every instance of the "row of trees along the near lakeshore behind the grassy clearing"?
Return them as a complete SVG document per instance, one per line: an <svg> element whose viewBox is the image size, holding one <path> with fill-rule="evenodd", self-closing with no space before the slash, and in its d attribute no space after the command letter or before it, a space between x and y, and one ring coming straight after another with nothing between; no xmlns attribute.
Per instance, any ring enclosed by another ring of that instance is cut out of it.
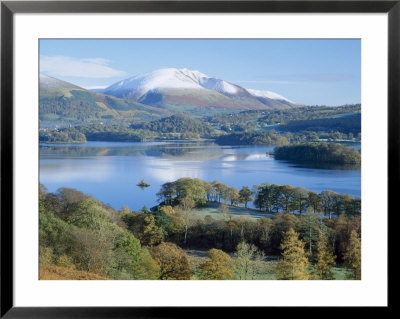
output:
<svg viewBox="0 0 400 319"><path fill-rule="evenodd" d="M303 187L264 183L254 185L253 189L243 186L240 190L229 187L219 181L206 182L198 178L184 177L161 186L157 193L163 205L179 205L182 200L191 199L195 206L204 206L207 202L244 205L249 202L266 213L298 213L307 211L323 214L329 219L359 216L361 200L348 194L338 194L331 190L316 193Z"/></svg>

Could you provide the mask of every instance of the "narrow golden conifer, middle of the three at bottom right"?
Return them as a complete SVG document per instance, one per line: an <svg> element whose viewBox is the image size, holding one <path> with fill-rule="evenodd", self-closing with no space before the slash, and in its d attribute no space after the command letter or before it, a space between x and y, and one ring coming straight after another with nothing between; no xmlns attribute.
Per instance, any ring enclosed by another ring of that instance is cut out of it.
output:
<svg viewBox="0 0 400 319"><path fill-rule="evenodd" d="M319 231L317 243L316 274L318 279L332 280L332 267L335 265L335 256L328 248L328 239L324 232Z"/></svg>

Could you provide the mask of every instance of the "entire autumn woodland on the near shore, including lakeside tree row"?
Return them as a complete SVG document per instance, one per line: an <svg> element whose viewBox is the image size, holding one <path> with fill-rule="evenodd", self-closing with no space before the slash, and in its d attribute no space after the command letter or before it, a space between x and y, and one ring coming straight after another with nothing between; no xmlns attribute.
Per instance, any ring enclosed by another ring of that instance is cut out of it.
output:
<svg viewBox="0 0 400 319"><path fill-rule="evenodd" d="M49 193L41 185L42 279L361 278L357 198L190 178L164 184L159 197L153 211L117 211L77 190ZM230 213L253 200L265 217ZM196 215L207 202L220 203L222 218ZM193 249L206 253L194 257Z"/></svg>

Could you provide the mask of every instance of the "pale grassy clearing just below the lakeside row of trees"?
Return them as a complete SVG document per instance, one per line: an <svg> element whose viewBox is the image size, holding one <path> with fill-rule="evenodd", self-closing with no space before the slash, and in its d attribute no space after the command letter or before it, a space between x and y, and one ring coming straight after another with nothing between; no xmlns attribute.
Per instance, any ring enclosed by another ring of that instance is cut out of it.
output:
<svg viewBox="0 0 400 319"><path fill-rule="evenodd" d="M218 207L220 206L220 203L214 203L214 202L208 202L206 206L197 208L196 209L196 214L199 218L204 219L207 215L210 215L214 219L223 219L224 216L222 216L221 213L218 211ZM246 218L253 218L253 219L258 219L261 217L273 217L274 214L266 213L266 212L260 212L257 209L251 209L251 208L244 208L244 207L236 207L236 206L229 206L229 212L233 215L233 218L239 218L239 217L246 217Z"/></svg>

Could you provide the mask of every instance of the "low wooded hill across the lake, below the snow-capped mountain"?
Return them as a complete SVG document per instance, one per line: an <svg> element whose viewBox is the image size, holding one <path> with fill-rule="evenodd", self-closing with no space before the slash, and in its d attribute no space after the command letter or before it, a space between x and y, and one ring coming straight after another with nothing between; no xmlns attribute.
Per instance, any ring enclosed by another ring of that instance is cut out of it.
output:
<svg viewBox="0 0 400 319"><path fill-rule="evenodd" d="M194 133L203 137L211 136L214 133L214 129L209 124L181 114L149 123L133 124L131 128L146 129L158 133Z"/></svg>

